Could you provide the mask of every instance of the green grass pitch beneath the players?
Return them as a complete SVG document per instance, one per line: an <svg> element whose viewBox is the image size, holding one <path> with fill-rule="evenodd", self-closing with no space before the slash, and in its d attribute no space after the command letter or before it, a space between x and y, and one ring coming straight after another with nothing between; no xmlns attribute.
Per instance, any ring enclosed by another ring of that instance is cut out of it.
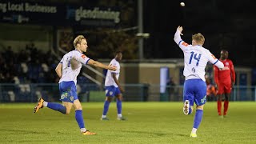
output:
<svg viewBox="0 0 256 144"><path fill-rule="evenodd" d="M35 103L0 104L0 143L256 143L256 102L230 102L227 118L219 118L217 103L207 102L198 138L190 138L192 115L182 102L123 102L118 121L115 102L100 121L103 102L82 103L86 129L82 135L74 119L49 108L33 113Z"/></svg>

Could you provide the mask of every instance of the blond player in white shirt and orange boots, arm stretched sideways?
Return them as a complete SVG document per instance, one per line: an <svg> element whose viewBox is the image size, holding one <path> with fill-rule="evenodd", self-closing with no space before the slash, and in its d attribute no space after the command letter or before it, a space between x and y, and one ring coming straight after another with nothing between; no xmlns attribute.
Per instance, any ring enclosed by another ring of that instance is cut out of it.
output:
<svg viewBox="0 0 256 144"><path fill-rule="evenodd" d="M37 106L34 107L34 113L38 112L42 107L48 107L52 110L57 110L62 114L70 114L71 108L74 107L75 119L78 122L81 133L83 135L94 135L96 133L86 130L82 118L82 106L78 99L76 89L77 76L80 73L82 65L89 64L91 66L97 66L108 70L116 70L116 68L115 66L103 65L101 62L94 61L93 59L86 57L85 54L82 54L83 52L86 52L88 47L84 36L78 35L78 37L74 39L74 47L75 50L65 54L55 69L58 77L60 78L58 83L62 105L54 102L46 102L42 98L39 98Z"/></svg>

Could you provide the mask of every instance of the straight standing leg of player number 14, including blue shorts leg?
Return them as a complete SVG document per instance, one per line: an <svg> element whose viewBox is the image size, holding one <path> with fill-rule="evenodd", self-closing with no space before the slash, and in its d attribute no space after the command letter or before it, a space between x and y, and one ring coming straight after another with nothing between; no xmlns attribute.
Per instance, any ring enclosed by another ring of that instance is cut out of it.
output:
<svg viewBox="0 0 256 144"><path fill-rule="evenodd" d="M197 130L202 122L202 114L203 114L203 106L206 103L206 82L202 81L201 79L194 80L197 85L194 86L194 102L197 105L197 110L194 115L194 125L193 129L191 130L190 137L197 137Z"/></svg>

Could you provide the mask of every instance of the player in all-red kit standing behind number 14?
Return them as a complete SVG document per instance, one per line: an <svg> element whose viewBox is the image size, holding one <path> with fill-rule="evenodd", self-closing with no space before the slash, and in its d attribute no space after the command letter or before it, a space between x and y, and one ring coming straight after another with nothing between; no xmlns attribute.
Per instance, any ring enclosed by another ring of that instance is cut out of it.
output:
<svg viewBox="0 0 256 144"><path fill-rule="evenodd" d="M227 50L221 51L221 58L219 59L223 64L222 70L214 66L214 80L218 89L218 115L222 117L222 97L225 96L224 100L224 111L223 116L226 116L226 112L229 107L230 92L235 82L235 73L233 62L228 59L229 52Z"/></svg>

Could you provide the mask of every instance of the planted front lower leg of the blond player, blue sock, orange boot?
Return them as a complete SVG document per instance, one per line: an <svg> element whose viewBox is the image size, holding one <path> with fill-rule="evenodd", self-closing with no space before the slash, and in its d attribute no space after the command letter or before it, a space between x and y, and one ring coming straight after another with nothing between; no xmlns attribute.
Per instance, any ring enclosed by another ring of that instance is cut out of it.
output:
<svg viewBox="0 0 256 144"><path fill-rule="evenodd" d="M78 122L78 126L83 135L94 135L96 133L92 133L89 130L86 130L86 126L82 117L82 105L81 102L77 99L74 100L74 110L75 110L75 119Z"/></svg>

